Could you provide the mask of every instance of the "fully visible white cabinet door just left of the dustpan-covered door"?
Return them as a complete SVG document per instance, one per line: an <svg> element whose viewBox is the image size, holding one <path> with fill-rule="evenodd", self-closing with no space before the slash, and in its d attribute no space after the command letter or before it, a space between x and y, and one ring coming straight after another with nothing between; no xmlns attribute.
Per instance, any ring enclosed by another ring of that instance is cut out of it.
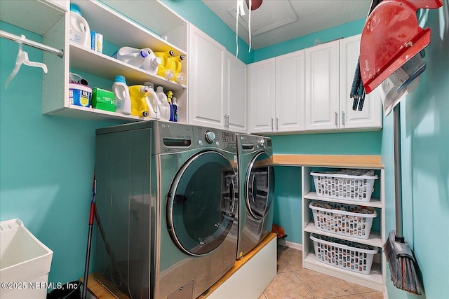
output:
<svg viewBox="0 0 449 299"><path fill-rule="evenodd" d="M339 41L305 49L306 55L306 130L339 127L340 80Z"/></svg>

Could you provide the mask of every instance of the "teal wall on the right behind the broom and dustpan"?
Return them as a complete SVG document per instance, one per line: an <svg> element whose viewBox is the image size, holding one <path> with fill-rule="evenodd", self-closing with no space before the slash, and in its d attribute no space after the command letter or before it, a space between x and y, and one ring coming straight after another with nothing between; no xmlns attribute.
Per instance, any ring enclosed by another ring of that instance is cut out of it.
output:
<svg viewBox="0 0 449 299"><path fill-rule="evenodd" d="M449 4L422 11L431 28L427 69L415 92L401 101L403 233L422 271L426 298L447 298L449 256ZM392 113L391 113L392 114ZM387 232L395 229L393 119L384 118ZM388 280L389 298L415 298Z"/></svg>

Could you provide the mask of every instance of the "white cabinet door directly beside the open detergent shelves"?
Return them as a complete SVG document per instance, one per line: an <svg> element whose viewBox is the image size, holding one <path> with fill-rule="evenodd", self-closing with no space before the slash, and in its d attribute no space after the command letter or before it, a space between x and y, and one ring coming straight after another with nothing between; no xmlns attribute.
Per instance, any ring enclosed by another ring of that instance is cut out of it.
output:
<svg viewBox="0 0 449 299"><path fill-rule="evenodd" d="M223 128L225 47L189 25L189 123Z"/></svg>

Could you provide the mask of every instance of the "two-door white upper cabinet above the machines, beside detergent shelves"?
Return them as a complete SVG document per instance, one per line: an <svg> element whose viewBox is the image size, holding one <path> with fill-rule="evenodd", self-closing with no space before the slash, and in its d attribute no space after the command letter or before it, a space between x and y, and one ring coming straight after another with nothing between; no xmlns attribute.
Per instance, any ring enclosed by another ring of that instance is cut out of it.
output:
<svg viewBox="0 0 449 299"><path fill-rule="evenodd" d="M189 25L189 123L247 132L247 67Z"/></svg>

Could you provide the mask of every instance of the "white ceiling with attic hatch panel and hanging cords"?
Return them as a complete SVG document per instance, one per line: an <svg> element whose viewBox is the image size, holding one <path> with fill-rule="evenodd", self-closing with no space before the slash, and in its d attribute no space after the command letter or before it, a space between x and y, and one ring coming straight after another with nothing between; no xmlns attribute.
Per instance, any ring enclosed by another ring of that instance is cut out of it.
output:
<svg viewBox="0 0 449 299"><path fill-rule="evenodd" d="M237 0L203 0L223 22L236 32ZM248 7L239 17L239 36L249 44ZM262 0L251 12L251 48L296 39L323 29L366 18L371 0Z"/></svg>

